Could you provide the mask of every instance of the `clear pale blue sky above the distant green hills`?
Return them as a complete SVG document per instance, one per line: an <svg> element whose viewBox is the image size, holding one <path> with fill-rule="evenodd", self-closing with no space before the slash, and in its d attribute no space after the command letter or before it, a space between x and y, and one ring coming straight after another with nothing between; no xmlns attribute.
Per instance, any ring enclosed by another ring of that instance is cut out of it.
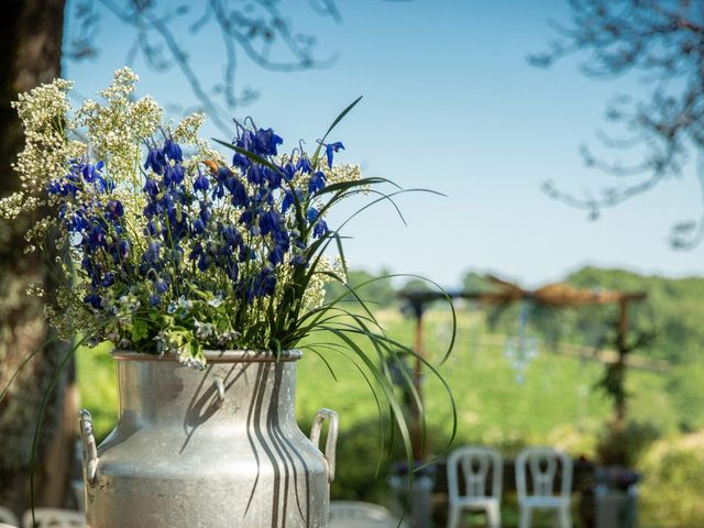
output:
<svg viewBox="0 0 704 528"><path fill-rule="evenodd" d="M363 95L333 134L346 146L340 158L361 164L370 176L447 195L399 198L407 226L385 206L355 219L345 250L353 267L421 274L450 287L469 268L528 286L584 264L671 276L704 273L704 248L674 252L666 243L670 226L701 215L692 167L656 193L604 211L596 222L541 193L546 179L578 193L607 182L584 167L579 146L595 144L610 96L642 89L638 78L587 79L574 58L548 70L527 64L527 54L543 50L551 36L547 20L568 20L564 1L338 3L339 25L317 16L307 0L284 0L282 9L296 25L318 36L319 55L338 58L330 68L293 74L265 72L243 58L238 82L261 97L238 117L273 127L285 146L300 138L312 144ZM64 65L64 76L84 95L109 82L131 42L130 31L109 13L101 23L97 59ZM218 78L219 35L184 32L183 38L200 78ZM143 79L142 94L163 103L195 103L178 74L152 73L139 58L133 68ZM215 129L208 133L221 136Z"/></svg>

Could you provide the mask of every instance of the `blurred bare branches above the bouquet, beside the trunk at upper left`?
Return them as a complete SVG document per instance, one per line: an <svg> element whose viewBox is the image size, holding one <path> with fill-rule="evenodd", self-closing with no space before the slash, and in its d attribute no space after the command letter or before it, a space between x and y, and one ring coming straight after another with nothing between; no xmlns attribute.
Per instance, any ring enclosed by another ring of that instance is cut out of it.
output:
<svg viewBox="0 0 704 528"><path fill-rule="evenodd" d="M315 13L341 22L334 0L309 0ZM318 58L314 34L300 33L279 9L277 0L207 0L202 12L188 25L190 34L212 32L222 43L223 73L212 85L193 64L183 38L177 37L177 24L191 15L191 4L160 6L154 0L97 0L108 14L134 31L127 62L142 57L156 73L173 69L187 80L198 100L198 109L208 113L223 133L231 133L229 119L233 111L257 98L252 88L240 89L235 82L239 54L257 66L273 72L297 72L331 66L336 55ZM72 59L95 58L94 45L100 31L101 13L94 0L79 0L73 9L66 53ZM215 31L213 31L215 30Z"/></svg>

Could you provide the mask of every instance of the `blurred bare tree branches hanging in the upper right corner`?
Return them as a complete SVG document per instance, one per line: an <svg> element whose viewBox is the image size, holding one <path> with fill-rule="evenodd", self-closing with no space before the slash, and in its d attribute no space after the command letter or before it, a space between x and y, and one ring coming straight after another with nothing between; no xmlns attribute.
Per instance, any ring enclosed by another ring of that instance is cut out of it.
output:
<svg viewBox="0 0 704 528"><path fill-rule="evenodd" d="M597 197L578 198L547 183L543 190L572 207L598 217L617 206L680 175L689 153L704 151L704 2L702 0L569 0L569 26L551 22L558 38L548 51L529 57L548 67L562 57L586 54L582 72L601 79L639 75L650 88L649 97L619 97L607 107L606 119L626 134L616 139L598 133L602 147L618 150L637 162L620 157L605 161L583 147L587 166L608 175L637 179L625 186L602 189ZM697 169L700 183L702 168ZM704 204L704 194L703 194ZM696 245L704 238L704 217L673 229L674 248ZM678 234L679 233L679 234ZM686 233L686 237L683 234ZM698 234L697 234L698 233ZM684 240L690 242L683 242Z"/></svg>

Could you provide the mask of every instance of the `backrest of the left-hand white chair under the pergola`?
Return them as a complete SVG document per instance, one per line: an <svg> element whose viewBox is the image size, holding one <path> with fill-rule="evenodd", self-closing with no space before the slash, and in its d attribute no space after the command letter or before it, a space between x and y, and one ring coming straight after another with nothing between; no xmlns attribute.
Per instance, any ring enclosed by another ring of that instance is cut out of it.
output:
<svg viewBox="0 0 704 528"><path fill-rule="evenodd" d="M464 495L460 494L460 468L464 477ZM492 475L491 492L486 493L487 481ZM460 497L501 501L504 463L494 449L468 446L458 448L448 458L448 492L450 503Z"/></svg>

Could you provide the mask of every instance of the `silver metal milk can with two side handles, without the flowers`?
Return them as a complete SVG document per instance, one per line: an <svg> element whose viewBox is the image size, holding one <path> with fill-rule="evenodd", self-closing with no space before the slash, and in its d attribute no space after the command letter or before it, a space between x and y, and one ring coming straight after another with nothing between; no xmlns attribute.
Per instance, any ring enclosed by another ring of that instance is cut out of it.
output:
<svg viewBox="0 0 704 528"><path fill-rule="evenodd" d="M310 439L298 429L300 352L207 352L205 372L173 356L112 355L118 426L96 447L90 414L80 415L91 528L328 525L338 419L321 409Z"/></svg>

